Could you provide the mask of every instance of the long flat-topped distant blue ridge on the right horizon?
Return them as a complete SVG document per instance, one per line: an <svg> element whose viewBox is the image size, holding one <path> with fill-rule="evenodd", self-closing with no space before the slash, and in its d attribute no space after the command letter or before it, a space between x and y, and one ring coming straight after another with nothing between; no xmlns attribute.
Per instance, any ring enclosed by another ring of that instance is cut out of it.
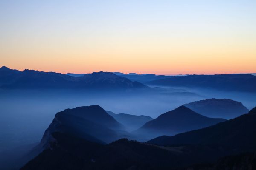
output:
<svg viewBox="0 0 256 170"><path fill-rule="evenodd" d="M214 88L226 91L256 91L256 76L251 74L216 74L174 76L148 82L152 85Z"/></svg>

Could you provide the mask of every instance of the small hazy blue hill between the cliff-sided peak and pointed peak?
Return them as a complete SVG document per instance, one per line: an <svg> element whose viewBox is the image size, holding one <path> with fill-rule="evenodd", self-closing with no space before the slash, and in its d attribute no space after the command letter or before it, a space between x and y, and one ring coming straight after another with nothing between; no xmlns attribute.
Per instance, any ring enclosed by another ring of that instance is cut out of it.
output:
<svg viewBox="0 0 256 170"><path fill-rule="evenodd" d="M109 115L113 116L118 122L120 122L122 125L125 125L126 129L128 131L136 130L142 125L144 125L146 122L153 120L150 116L144 116L144 115L131 115L126 113L118 113L115 114L111 111L106 111Z"/></svg>

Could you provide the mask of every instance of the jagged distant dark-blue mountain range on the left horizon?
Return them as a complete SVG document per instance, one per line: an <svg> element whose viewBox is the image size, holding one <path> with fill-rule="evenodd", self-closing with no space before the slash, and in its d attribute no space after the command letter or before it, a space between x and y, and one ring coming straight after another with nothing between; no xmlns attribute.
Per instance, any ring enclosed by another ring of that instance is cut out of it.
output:
<svg viewBox="0 0 256 170"><path fill-rule="evenodd" d="M3 70L3 71L2 71ZM5 71L7 70L7 71ZM139 83L132 82L124 77L109 72L93 72L81 77L73 77L55 72L35 70L16 71L1 68L2 88L88 88L88 89L135 89L148 88Z"/></svg>

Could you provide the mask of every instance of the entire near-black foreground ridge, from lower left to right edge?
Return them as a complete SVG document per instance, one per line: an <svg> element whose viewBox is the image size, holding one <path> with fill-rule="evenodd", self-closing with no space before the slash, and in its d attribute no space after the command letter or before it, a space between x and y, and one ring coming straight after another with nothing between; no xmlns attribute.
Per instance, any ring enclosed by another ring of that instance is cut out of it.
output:
<svg viewBox="0 0 256 170"><path fill-rule="evenodd" d="M253 170L255 167L256 108L217 125L161 136L146 143L119 139L102 144L77 134L51 133L48 147L21 170Z"/></svg>

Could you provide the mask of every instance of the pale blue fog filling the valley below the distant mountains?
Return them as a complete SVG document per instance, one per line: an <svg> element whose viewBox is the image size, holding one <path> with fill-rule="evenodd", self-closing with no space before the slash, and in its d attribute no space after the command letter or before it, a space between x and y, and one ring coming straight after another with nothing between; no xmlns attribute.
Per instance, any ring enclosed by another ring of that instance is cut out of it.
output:
<svg viewBox="0 0 256 170"><path fill-rule="evenodd" d="M77 106L100 105L114 113L156 118L188 102L206 98L230 98L248 109L256 105L256 94L168 88L154 92L85 92L74 90L1 90L0 152L39 142L58 111Z"/></svg>

